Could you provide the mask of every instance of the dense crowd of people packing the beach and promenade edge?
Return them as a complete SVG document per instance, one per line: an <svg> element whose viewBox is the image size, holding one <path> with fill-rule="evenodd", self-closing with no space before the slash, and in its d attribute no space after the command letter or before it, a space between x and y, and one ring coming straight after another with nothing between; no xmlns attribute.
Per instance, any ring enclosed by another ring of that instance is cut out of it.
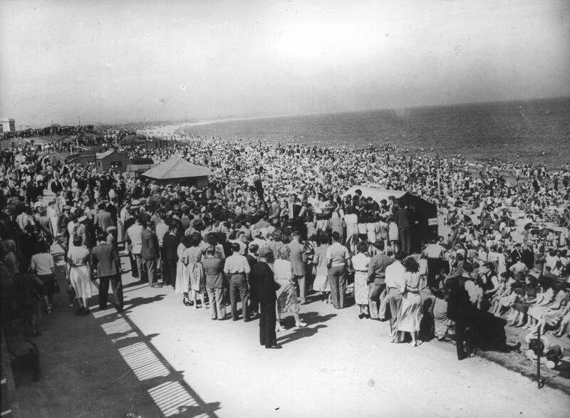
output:
<svg viewBox="0 0 570 418"><path fill-rule="evenodd" d="M105 136L103 145L115 137ZM74 145L77 138L53 146ZM348 294L358 318L389 320L394 343L411 339L417 346L422 335L445 339L455 328L460 358L465 333L504 349L504 315L532 331L541 325L556 335L569 332L570 177L564 168L553 174L527 165L521 172L528 178L511 183L500 167L474 170L462 155L434 157L391 143L356 149L188 135L156 150L114 147L155 164L180 155L214 175L197 189L98 173L31 146L2 150L6 333L23 324L28 335L40 334L37 319L51 312L59 291L54 241L65 252L69 286L63 290L78 315L89 311L95 278L99 307L106 308L111 285L115 308L123 310L118 249L125 243L133 277L172 286L182 303L208 308L212 319L226 319L229 305L237 320L240 299L242 318L255 318L259 301L250 271L262 256L281 285L278 330L287 316L306 325L305 303L342 309ZM434 202L450 233L412 248L416 209L394 197L375 202L358 191L346 194L359 184ZM46 189L55 199L44 199ZM519 217L526 224L517 224Z"/></svg>

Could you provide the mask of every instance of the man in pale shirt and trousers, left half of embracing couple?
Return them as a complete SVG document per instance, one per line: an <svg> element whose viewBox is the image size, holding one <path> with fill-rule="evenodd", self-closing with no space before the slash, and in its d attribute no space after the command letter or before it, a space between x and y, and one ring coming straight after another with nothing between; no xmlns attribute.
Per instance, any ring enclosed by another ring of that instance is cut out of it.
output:
<svg viewBox="0 0 570 418"><path fill-rule="evenodd" d="M386 291L388 292L388 303L390 304L390 343L402 343L404 333L398 331L400 325L400 312L402 307L402 293L405 291L405 268L402 260L405 254L398 251L395 261L386 267Z"/></svg>

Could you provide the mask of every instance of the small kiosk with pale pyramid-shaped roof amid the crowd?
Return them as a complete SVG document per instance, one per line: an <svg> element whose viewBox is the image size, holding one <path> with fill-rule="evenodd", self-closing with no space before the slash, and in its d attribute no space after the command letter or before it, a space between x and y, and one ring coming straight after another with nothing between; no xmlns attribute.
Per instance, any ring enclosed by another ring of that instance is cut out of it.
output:
<svg viewBox="0 0 570 418"><path fill-rule="evenodd" d="M145 171L141 177L156 180L160 184L189 184L201 188L208 185L208 177L213 174L207 167L191 164L176 156Z"/></svg>

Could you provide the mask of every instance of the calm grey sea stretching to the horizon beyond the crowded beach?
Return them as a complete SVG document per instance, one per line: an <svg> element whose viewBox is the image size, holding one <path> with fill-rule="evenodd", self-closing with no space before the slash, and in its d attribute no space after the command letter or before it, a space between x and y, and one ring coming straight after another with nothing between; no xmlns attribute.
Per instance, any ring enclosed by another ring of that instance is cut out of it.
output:
<svg viewBox="0 0 570 418"><path fill-rule="evenodd" d="M185 128L198 135L409 150L470 160L498 158L559 168L570 162L570 98L234 120Z"/></svg>

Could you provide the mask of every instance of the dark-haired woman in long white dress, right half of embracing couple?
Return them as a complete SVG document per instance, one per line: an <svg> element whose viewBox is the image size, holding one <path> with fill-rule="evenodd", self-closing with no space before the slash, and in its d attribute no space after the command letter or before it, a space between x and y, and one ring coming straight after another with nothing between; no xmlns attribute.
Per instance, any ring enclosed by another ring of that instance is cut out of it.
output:
<svg viewBox="0 0 570 418"><path fill-rule="evenodd" d="M404 261L405 284L400 288L402 292L402 308L400 313L400 324L398 331L410 333L412 335L413 347L417 347L422 342L418 340L420 332L420 321L422 320L422 296L420 296L420 265L415 258L408 257Z"/></svg>

